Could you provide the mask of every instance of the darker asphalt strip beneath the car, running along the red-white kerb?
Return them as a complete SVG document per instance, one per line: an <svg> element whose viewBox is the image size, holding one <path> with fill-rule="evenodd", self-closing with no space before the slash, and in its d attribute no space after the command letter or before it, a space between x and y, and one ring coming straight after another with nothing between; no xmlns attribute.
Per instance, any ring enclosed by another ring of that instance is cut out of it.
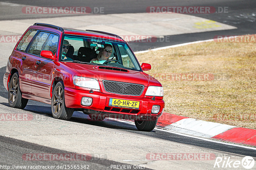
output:
<svg viewBox="0 0 256 170"><path fill-rule="evenodd" d="M3 67L0 69L0 79L3 78L2 75L4 74L5 70L6 70L6 67ZM4 89L4 85L2 81L0 81L0 87L1 87L0 96L7 98L8 93ZM9 106L8 103L1 103L1 104ZM29 100L28 105L24 110L27 110L33 113L38 113L38 114L45 114L48 117L52 117L51 106L49 104ZM73 116L70 119L70 121L77 122L80 124L91 124L94 126L107 127L111 129L119 129L119 130L128 131L132 133L137 133L140 135L146 135L153 138L161 138L164 140L198 146L202 148L218 150L222 152L229 152L229 153L235 153L235 154L240 154L245 156L256 157L256 152L255 150L252 150L252 149L242 148L242 147L233 146L233 145L225 145L224 143L223 144L212 143L209 141L205 141L197 138L185 137L185 136L181 136L181 135L177 135L177 134L169 133L165 131L154 130L152 132L142 132L142 131L138 131L134 125L124 124L116 121L90 121L90 118L88 119L85 119L84 117L81 118L79 114L83 115L83 113L81 112L76 112L76 114L74 115L77 115L77 116L76 117Z"/></svg>

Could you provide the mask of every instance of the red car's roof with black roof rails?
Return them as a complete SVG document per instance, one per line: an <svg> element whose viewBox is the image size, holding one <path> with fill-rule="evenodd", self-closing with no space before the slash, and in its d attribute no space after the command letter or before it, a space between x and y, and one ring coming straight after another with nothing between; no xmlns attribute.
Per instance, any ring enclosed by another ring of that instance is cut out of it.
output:
<svg viewBox="0 0 256 170"><path fill-rule="evenodd" d="M99 37L99 38L103 38L103 39L124 41L120 36L118 36L116 34L112 34L109 32L103 32L103 31L97 31L97 30L79 30L79 29L64 28L64 27L59 27L56 25L44 24L44 23L35 23L31 27L55 29L55 30L64 32L65 34L84 35L84 36L90 36L90 37Z"/></svg>

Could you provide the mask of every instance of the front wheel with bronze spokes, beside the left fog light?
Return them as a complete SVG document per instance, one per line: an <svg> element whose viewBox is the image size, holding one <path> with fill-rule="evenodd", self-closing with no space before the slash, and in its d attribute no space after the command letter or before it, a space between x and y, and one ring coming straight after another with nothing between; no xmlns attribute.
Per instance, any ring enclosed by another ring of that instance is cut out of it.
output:
<svg viewBox="0 0 256 170"><path fill-rule="evenodd" d="M59 81L52 93L52 116L56 119L69 120L73 115L74 109L66 107L64 96L64 84Z"/></svg>

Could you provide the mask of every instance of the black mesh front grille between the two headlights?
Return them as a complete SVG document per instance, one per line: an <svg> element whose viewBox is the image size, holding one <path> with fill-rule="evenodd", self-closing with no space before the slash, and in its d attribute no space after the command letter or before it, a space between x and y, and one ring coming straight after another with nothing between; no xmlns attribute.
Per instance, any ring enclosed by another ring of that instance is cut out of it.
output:
<svg viewBox="0 0 256 170"><path fill-rule="evenodd" d="M144 89L144 86L141 84L132 84L106 80L103 80L103 85L107 92L131 96L140 96Z"/></svg>

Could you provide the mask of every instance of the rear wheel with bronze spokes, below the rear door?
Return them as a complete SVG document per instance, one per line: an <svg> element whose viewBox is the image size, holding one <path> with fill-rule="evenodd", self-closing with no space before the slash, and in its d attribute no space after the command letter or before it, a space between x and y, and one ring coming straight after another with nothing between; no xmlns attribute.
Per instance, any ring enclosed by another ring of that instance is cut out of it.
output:
<svg viewBox="0 0 256 170"><path fill-rule="evenodd" d="M17 109L24 109L28 103L28 99L22 98L18 72L12 75L12 78L9 84L8 103L11 107L17 108Z"/></svg>

